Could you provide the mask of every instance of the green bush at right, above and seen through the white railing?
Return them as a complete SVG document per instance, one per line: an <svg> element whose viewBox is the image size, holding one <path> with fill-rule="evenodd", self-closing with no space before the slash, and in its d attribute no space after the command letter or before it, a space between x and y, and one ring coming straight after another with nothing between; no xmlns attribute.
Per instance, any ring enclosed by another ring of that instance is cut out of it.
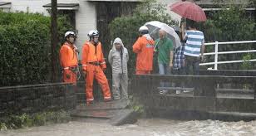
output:
<svg viewBox="0 0 256 136"><path fill-rule="evenodd" d="M228 8L227 8L228 7ZM243 7L225 6L219 12L212 12L204 23L203 32L205 41L250 41L255 40L256 23L247 17ZM221 45L219 51L252 50L254 44ZM206 51L214 51L214 47L206 47ZM243 54L220 55L219 61L241 60ZM214 56L207 58L214 60ZM241 64L219 65L219 69L239 69Z"/></svg>

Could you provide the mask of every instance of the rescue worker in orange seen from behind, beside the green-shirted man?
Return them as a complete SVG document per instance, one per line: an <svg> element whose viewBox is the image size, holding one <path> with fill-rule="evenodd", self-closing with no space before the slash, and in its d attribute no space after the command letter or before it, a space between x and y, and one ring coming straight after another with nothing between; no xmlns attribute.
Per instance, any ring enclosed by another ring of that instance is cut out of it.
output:
<svg viewBox="0 0 256 136"><path fill-rule="evenodd" d="M137 54L136 75L148 75L153 70L155 41L150 37L148 27L140 27L139 32L140 37L132 46L133 51Z"/></svg>

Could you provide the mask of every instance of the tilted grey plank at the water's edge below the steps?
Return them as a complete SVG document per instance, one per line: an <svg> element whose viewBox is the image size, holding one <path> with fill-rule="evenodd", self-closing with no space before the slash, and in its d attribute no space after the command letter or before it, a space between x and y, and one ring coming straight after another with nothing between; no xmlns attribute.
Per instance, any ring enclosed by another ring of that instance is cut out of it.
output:
<svg viewBox="0 0 256 136"><path fill-rule="evenodd" d="M132 109L121 109L110 120L112 125L134 124L137 121L137 114Z"/></svg>

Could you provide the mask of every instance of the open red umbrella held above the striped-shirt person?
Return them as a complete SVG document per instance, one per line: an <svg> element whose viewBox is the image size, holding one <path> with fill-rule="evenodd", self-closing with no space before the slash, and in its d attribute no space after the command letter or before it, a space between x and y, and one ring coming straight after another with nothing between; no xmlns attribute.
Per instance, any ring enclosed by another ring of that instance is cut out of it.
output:
<svg viewBox="0 0 256 136"><path fill-rule="evenodd" d="M193 2L175 2L170 5L170 10L179 14L181 17L189 18L195 22L206 21L203 9Z"/></svg>

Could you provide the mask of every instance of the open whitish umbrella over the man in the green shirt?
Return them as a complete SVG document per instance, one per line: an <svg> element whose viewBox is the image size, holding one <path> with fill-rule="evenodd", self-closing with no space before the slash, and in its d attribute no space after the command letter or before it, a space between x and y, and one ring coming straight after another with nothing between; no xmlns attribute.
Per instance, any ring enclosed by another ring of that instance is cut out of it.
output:
<svg viewBox="0 0 256 136"><path fill-rule="evenodd" d="M169 37L173 41L175 48L178 48L179 46L181 46L180 37L175 32L175 29L172 27L169 27L167 24L163 22L152 21L152 22L146 22L145 26L149 28L150 36L152 36L154 39L159 38L158 31L162 29L166 32L167 37Z"/></svg>

